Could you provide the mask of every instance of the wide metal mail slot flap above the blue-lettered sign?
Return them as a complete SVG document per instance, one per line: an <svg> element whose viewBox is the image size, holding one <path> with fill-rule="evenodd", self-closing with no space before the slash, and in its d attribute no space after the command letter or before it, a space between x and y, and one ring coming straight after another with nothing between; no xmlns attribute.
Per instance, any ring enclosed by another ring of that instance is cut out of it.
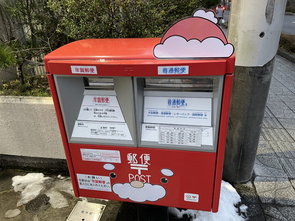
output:
<svg viewBox="0 0 295 221"><path fill-rule="evenodd" d="M212 92L209 78L145 78L145 91Z"/></svg>

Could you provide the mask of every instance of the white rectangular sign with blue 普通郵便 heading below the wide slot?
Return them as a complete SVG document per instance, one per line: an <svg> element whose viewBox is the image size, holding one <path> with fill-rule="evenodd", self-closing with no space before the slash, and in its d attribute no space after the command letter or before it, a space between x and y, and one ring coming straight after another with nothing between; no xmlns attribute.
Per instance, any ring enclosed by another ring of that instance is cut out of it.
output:
<svg viewBox="0 0 295 221"><path fill-rule="evenodd" d="M144 123L211 126L212 98L144 98Z"/></svg>

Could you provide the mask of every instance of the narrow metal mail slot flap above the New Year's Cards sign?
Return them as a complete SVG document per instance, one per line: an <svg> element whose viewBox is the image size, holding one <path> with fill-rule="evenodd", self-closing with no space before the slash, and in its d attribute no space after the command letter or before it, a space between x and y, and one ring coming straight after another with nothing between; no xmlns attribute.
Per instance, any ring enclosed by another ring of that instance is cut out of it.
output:
<svg viewBox="0 0 295 221"><path fill-rule="evenodd" d="M85 90L114 90L112 77L84 77Z"/></svg>

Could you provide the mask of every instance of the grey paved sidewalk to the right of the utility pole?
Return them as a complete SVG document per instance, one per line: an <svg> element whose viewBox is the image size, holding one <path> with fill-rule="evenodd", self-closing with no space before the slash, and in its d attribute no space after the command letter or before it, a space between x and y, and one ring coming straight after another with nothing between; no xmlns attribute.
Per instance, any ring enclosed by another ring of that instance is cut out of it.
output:
<svg viewBox="0 0 295 221"><path fill-rule="evenodd" d="M295 65L277 56L254 174L234 187L250 221L295 220Z"/></svg>

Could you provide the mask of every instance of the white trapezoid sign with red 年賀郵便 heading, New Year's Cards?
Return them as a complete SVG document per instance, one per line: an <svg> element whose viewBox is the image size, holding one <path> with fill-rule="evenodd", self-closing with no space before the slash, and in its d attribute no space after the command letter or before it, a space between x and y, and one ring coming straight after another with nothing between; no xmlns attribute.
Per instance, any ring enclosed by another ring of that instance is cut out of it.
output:
<svg viewBox="0 0 295 221"><path fill-rule="evenodd" d="M78 120L125 122L116 96L84 95Z"/></svg>

